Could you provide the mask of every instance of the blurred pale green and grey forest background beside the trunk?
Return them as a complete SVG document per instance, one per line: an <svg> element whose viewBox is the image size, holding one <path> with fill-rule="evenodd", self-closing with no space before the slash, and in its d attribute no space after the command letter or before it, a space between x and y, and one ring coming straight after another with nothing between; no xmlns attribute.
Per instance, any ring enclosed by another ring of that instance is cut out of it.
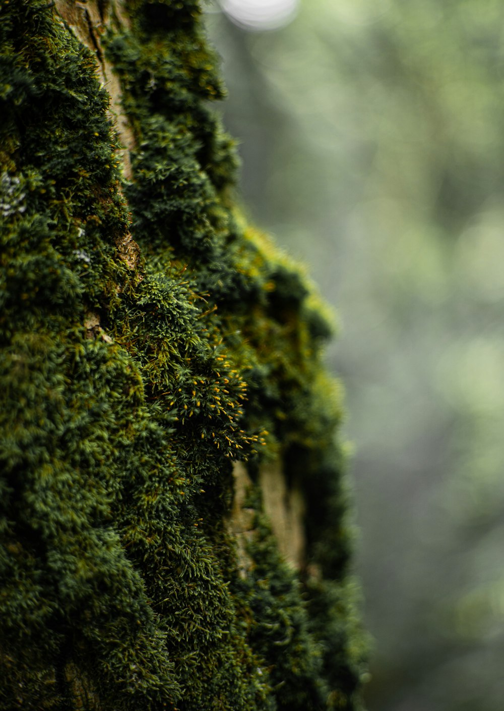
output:
<svg viewBox="0 0 504 711"><path fill-rule="evenodd" d="M248 211L341 320L368 709L499 710L504 4L215 0L207 26Z"/></svg>

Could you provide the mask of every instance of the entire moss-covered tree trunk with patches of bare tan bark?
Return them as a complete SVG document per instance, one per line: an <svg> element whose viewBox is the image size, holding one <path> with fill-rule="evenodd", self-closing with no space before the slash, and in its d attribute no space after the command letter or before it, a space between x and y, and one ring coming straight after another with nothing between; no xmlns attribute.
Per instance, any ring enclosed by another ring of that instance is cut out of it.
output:
<svg viewBox="0 0 504 711"><path fill-rule="evenodd" d="M0 707L357 709L330 329L199 3L0 7Z"/></svg>

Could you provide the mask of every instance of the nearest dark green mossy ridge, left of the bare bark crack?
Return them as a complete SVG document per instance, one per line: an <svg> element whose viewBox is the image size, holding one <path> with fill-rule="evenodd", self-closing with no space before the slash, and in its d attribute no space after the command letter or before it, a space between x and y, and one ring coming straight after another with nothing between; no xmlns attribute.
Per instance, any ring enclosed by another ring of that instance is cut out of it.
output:
<svg viewBox="0 0 504 711"><path fill-rule="evenodd" d="M105 707L171 706L165 633L114 525L143 388L84 329L131 278L108 100L47 4L4 4L0 33L1 705L67 708L84 684Z"/></svg>

